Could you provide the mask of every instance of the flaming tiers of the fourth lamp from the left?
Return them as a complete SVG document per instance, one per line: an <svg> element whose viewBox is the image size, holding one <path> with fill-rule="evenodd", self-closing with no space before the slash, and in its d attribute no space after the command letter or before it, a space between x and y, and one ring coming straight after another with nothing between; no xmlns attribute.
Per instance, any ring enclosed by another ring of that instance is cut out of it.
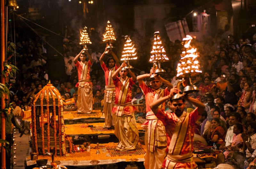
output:
<svg viewBox="0 0 256 169"><path fill-rule="evenodd" d="M154 33L154 42L153 42L153 46L150 54L151 54L149 59L150 63L155 61L164 62L169 60L169 58L166 56L166 52L164 50L161 37L159 35L159 31Z"/></svg>

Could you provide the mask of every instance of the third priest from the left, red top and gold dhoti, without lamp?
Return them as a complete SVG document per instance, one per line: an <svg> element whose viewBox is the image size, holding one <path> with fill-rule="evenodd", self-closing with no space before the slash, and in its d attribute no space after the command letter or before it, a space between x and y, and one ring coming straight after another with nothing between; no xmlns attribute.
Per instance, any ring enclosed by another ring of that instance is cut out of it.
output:
<svg viewBox="0 0 256 169"><path fill-rule="evenodd" d="M116 150L119 151L134 150L139 142L139 131L132 106L132 85L136 81L136 76L130 69L124 69L126 66L126 63L122 63L112 75L116 86L115 106L112 112L116 114L115 135L119 140ZM118 73L120 77L117 77ZM128 73L131 78L127 77Z"/></svg>

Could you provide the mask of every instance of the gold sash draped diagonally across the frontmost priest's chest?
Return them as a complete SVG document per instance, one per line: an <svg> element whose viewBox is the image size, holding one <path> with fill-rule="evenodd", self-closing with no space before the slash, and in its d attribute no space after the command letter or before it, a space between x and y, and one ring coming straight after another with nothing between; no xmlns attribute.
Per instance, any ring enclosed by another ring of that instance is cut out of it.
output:
<svg viewBox="0 0 256 169"><path fill-rule="evenodd" d="M185 118L182 122L178 121L169 145L169 154L179 155L185 141L185 137L188 129L189 113L186 113ZM191 145L189 145L191 146Z"/></svg>

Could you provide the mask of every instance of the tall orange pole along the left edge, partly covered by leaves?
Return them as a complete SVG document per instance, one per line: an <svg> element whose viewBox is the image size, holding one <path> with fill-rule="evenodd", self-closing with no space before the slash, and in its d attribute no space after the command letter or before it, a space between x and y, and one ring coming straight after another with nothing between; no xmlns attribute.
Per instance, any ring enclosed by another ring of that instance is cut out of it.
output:
<svg viewBox="0 0 256 169"><path fill-rule="evenodd" d="M1 72L4 71L4 60L5 60L5 50L4 50L4 0L1 0ZM4 76L1 75L1 83L5 84ZM5 96L5 95L4 95ZM1 109L5 108L4 96L1 98ZM5 140L5 116L4 112L1 114L1 126L2 126L2 139ZM5 145L5 144L4 144ZM5 169L5 149L2 145L1 149L1 160L2 160L2 169Z"/></svg>

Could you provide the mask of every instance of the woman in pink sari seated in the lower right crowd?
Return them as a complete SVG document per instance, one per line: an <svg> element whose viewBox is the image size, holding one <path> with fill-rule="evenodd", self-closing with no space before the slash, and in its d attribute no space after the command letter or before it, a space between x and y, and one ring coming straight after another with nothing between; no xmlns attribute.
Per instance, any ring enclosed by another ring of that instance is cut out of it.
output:
<svg viewBox="0 0 256 169"><path fill-rule="evenodd" d="M231 157L234 151L239 151L243 153L243 139L241 137L243 131L244 128L241 123L236 123L234 125L233 133L235 133L235 135L232 138L232 143L227 147L228 149L223 153L226 159L228 157Z"/></svg>

